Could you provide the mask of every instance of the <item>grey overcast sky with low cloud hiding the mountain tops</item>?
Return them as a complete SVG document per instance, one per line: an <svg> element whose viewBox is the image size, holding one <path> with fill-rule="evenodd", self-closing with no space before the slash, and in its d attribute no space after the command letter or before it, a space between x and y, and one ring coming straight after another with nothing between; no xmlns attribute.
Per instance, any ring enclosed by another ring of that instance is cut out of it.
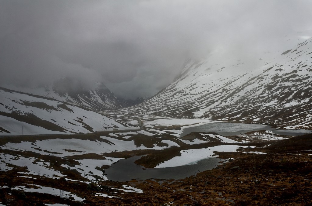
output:
<svg viewBox="0 0 312 206"><path fill-rule="evenodd" d="M0 84L72 77L124 98L152 96L189 58L218 48L258 58L312 30L311 20L310 0L0 0Z"/></svg>

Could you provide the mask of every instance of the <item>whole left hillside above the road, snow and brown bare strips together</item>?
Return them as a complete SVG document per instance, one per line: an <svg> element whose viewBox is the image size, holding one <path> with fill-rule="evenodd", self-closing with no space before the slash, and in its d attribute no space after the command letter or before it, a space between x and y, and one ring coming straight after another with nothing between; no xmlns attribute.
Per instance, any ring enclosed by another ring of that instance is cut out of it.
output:
<svg viewBox="0 0 312 206"><path fill-rule="evenodd" d="M0 89L0 135L87 133L137 129L96 112L40 96Z"/></svg>

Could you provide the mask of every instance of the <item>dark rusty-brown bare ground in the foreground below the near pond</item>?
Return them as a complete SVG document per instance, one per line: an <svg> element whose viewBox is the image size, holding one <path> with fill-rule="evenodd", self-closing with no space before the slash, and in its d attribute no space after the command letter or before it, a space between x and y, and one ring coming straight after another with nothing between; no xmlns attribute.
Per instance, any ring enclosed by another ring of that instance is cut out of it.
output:
<svg viewBox="0 0 312 206"><path fill-rule="evenodd" d="M40 177L17 177L17 171L0 172L0 185L38 184L69 191L85 197L83 203L47 194L22 194L0 189L0 202L7 205L312 205L312 135L290 138L255 151L268 154L223 152L221 157L235 160L216 169L183 180L153 180L121 183L104 181L98 185ZM183 171L181 171L183 172ZM74 177L71 177L74 178ZM162 183L162 184L161 184ZM144 193L123 193L112 188L123 184ZM96 197L95 192L119 198ZM170 204L170 202L172 204Z"/></svg>

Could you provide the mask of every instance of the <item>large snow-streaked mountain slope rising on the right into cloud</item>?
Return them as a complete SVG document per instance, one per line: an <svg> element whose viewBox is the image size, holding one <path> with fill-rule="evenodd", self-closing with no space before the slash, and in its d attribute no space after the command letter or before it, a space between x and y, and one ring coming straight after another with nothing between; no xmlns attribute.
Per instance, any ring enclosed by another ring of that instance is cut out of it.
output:
<svg viewBox="0 0 312 206"><path fill-rule="evenodd" d="M204 61L190 60L168 87L121 112L311 128L312 39L269 56L262 67L240 74L236 71L250 67L248 62L227 59L216 63L213 55Z"/></svg>

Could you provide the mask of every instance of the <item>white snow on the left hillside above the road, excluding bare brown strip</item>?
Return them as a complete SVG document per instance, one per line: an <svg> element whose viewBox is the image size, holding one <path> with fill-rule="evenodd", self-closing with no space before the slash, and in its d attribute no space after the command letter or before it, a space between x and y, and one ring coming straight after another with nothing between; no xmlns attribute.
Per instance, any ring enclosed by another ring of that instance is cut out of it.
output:
<svg viewBox="0 0 312 206"><path fill-rule="evenodd" d="M1 100L3 105L0 105L0 111L7 113L16 111L20 115L25 115L27 113L33 114L42 120L49 121L67 130L63 133L88 133L89 130L84 128L85 125L89 125L93 131L112 130L113 127L117 127L120 130L137 129L137 127L134 126L126 127L116 122L114 119L110 119L106 116L100 115L99 113L84 110L76 106L66 105L68 110L63 109L59 105L64 104L59 101L37 98L17 92L1 92L4 98ZM23 101L27 102L26 104L33 103L34 105L43 103L46 104L44 106L46 108L25 105ZM3 122L3 126L5 126L3 128L11 132L10 134L3 133L3 135L21 135L22 126L23 135L45 134L47 132L49 134L61 134L60 131L47 131L42 127L20 122L10 117L1 116L0 121L1 123Z"/></svg>

